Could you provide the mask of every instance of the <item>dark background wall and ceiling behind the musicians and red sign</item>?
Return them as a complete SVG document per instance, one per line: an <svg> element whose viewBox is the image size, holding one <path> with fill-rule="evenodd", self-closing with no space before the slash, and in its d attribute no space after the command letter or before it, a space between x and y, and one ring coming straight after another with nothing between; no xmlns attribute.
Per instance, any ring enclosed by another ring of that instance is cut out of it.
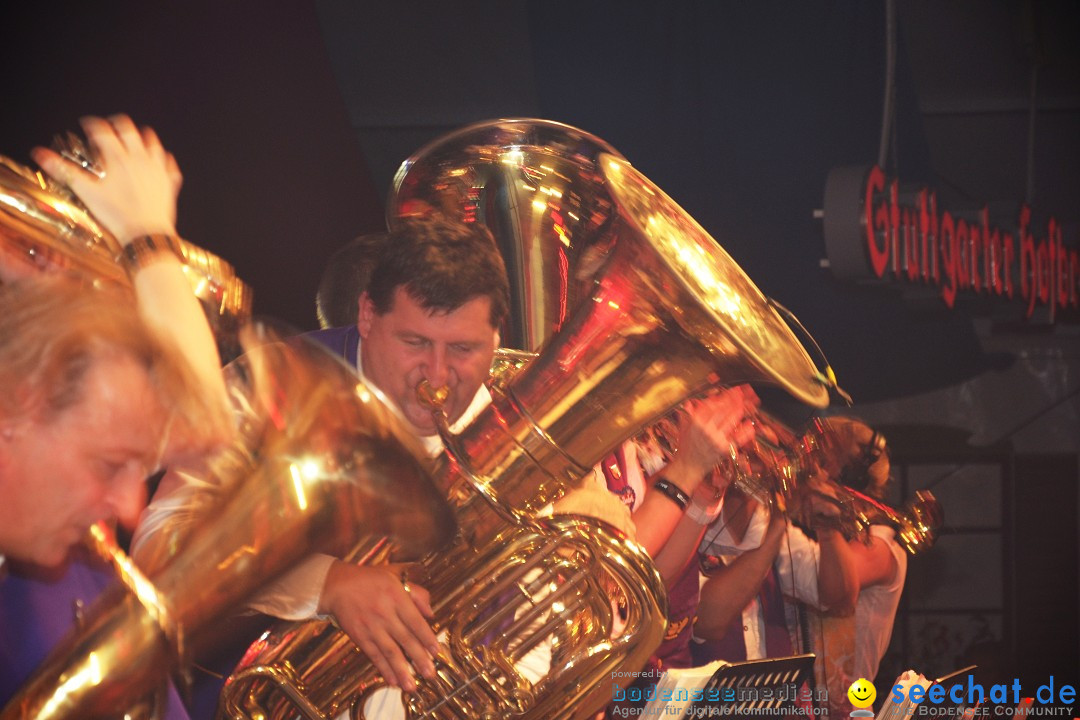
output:
<svg viewBox="0 0 1080 720"><path fill-rule="evenodd" d="M1056 216L1075 246L1080 22L1064 0L889 8L859 0L23 6L9 11L3 29L0 152L27 162L30 147L87 113L123 111L152 125L185 173L180 232L237 267L255 288L258 313L308 329L325 259L354 235L382 229L392 173L423 142L497 117L589 131L799 315L856 410L921 429L896 437L901 447L907 438L909 458L926 454L917 438L935 423L968 431L935 450L935 462L968 462L972 432L982 431L984 447L1004 443L1002 506L994 511L1003 538L994 561L1007 568L1003 647L1017 661L1045 661L1040 671L1075 676L1075 315L1056 326L1024 324L1018 309L949 312L839 283L821 267L813 212L829 168L878 158L891 27L889 174L929 185L948 209L1027 200L1037 227ZM983 380L993 391L971 384ZM1013 445L1015 429L1038 420L1049 424ZM1056 453L1064 464L1032 474L1026 461L1017 468L1016 452ZM1038 491L1016 485L1025 473L1039 478ZM978 497L961 502L981 508ZM1053 588L1042 592L1047 576ZM1037 606L1027 604L1032 593L1022 583L1040 588Z"/></svg>

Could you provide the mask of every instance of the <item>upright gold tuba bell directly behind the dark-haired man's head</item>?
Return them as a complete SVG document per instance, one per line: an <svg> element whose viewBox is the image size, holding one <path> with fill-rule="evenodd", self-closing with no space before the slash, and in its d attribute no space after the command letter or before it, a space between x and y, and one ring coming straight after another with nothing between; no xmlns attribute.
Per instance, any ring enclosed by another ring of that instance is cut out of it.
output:
<svg viewBox="0 0 1080 720"><path fill-rule="evenodd" d="M597 167L621 158L598 137L550 120L474 123L402 163L387 201L387 223L437 212L481 222L495 236L510 276L503 341L536 351L589 296L603 259L594 242L615 216Z"/></svg>

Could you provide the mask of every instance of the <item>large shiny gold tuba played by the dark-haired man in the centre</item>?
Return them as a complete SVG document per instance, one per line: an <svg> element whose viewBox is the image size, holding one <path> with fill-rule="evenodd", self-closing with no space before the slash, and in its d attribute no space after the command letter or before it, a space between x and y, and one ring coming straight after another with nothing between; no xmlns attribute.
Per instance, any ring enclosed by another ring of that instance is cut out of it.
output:
<svg viewBox="0 0 1080 720"><path fill-rule="evenodd" d="M550 184L573 178L531 151L468 148L532 187L521 212L562 214L568 193ZM468 194L472 171L459 169L447 177L464 177ZM585 243L602 249L590 294L536 358L496 383L476 420L444 436L436 474L460 534L422 560L442 650L438 677L392 699L409 718L590 717L610 699L611 673L638 669L660 642L665 593L642 548L606 524L538 513L619 443L717 382L773 382L827 402L792 332L697 222L621 158L597 153L595 174L596 205L609 209L604 236ZM521 658L545 644L548 671L528 677ZM356 720L384 691L332 625L288 624L229 679L219 717Z"/></svg>

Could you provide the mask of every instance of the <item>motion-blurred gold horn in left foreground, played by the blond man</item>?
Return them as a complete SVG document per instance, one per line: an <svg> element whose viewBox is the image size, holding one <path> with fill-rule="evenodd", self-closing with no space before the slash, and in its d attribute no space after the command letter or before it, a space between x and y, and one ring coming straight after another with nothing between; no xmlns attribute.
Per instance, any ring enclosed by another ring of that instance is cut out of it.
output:
<svg viewBox="0 0 1080 720"><path fill-rule="evenodd" d="M258 340L265 340L259 338ZM447 542L454 518L422 450L381 395L322 347L254 349L231 366L243 445L205 477L170 552L86 613L0 712L2 720L110 717L129 707L259 587L313 552L391 535L406 555Z"/></svg>

